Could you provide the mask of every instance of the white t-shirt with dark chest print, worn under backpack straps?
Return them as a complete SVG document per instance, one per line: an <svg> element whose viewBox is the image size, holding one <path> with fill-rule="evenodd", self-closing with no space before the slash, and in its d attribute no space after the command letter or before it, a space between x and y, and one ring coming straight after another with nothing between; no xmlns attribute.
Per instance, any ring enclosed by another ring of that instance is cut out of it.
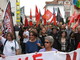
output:
<svg viewBox="0 0 80 60"><path fill-rule="evenodd" d="M1 41L4 44L6 39L4 37L2 37ZM6 43L5 43L4 49L3 49L3 54L5 56L16 55L16 51L15 50L17 50L17 49L19 49L19 44L17 43L17 41L15 41L15 40L13 40L13 41L7 40Z"/></svg>

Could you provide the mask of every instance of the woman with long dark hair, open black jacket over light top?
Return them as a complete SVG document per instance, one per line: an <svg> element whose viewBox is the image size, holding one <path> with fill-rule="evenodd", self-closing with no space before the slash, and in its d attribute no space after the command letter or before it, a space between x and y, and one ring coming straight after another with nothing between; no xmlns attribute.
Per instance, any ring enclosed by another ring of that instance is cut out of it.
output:
<svg viewBox="0 0 80 60"><path fill-rule="evenodd" d="M61 31L59 40L59 51L67 52L68 51L68 39L67 39L67 32L66 31Z"/></svg>

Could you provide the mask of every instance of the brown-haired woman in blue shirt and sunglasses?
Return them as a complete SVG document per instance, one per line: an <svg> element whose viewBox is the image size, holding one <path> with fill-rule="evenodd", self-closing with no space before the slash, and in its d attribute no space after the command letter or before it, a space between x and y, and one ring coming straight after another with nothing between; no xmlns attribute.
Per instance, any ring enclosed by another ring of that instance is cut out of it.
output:
<svg viewBox="0 0 80 60"><path fill-rule="evenodd" d="M26 53L38 52L39 47L41 47L41 41L37 40L37 33L34 31L30 31L30 39L26 43Z"/></svg>

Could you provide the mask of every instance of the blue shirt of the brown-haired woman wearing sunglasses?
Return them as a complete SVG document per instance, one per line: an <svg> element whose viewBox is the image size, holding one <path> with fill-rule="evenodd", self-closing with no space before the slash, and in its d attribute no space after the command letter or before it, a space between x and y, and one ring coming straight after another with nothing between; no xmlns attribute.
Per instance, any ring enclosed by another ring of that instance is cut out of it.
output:
<svg viewBox="0 0 80 60"><path fill-rule="evenodd" d="M41 43L40 40L36 40L35 42L28 41L26 43L26 53L34 53L39 51L39 46L37 43Z"/></svg>

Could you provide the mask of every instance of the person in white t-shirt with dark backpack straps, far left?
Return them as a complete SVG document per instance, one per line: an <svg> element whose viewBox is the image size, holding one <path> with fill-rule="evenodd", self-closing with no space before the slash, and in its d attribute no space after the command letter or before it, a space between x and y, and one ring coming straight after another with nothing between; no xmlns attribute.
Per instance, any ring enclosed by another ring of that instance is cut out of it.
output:
<svg viewBox="0 0 80 60"><path fill-rule="evenodd" d="M4 45L3 54L5 56L13 56L19 54L19 45L14 40L14 36L11 32L6 34L6 38L0 36L0 40Z"/></svg>

